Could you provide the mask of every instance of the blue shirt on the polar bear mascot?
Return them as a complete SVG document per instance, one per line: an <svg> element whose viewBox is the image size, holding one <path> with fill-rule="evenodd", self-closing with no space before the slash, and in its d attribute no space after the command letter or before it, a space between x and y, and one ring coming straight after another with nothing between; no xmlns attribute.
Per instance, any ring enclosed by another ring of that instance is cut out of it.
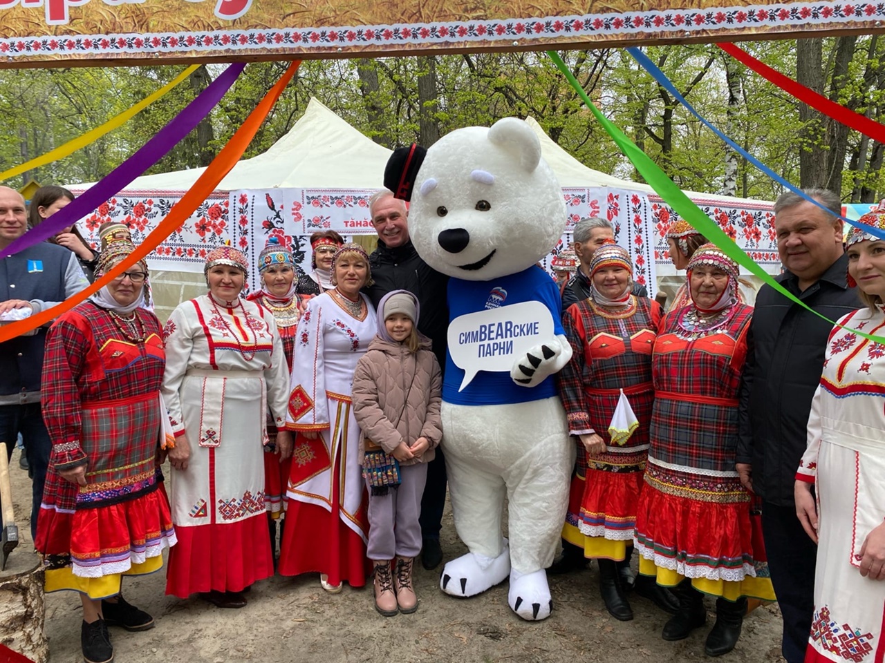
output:
<svg viewBox="0 0 885 663"><path fill-rule="evenodd" d="M485 309L505 307L523 301L539 301L553 316L553 332L565 334L562 327L562 309L559 290L550 275L537 265L516 274L493 278L490 281L449 280L449 321L468 313ZM510 371L489 372L481 370L473 381L458 392L464 380L464 370L459 369L446 352L443 400L457 405L506 405L542 400L557 395L554 377L546 378L532 388L515 384Z"/></svg>

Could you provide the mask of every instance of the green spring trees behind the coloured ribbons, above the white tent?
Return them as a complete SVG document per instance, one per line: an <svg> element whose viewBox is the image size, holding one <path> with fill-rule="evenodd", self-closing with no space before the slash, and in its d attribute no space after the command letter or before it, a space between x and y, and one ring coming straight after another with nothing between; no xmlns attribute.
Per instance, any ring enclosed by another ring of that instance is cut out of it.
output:
<svg viewBox="0 0 885 663"><path fill-rule="evenodd" d="M882 119L885 40L878 35L806 40L798 50L811 55L800 60L799 67L795 41L747 42L742 47L778 71L811 82L835 101ZM729 63L712 44L655 46L645 52L705 118L785 179L835 187L846 202L872 201L885 191L885 148L880 143L804 108L743 65ZM659 87L627 51L570 51L562 56L604 114L681 187L764 200L781 193ZM209 118L149 172L208 164L286 66L248 65ZM19 186L32 178L75 183L104 177L223 68L204 65L126 126L9 184ZM98 126L179 72L181 66L0 71L0 112L8 127L0 134L0 168L20 164ZM304 61L245 156L264 152L287 133L311 97L390 148L412 141L431 144L460 126L531 116L583 164L638 178L543 53Z"/></svg>

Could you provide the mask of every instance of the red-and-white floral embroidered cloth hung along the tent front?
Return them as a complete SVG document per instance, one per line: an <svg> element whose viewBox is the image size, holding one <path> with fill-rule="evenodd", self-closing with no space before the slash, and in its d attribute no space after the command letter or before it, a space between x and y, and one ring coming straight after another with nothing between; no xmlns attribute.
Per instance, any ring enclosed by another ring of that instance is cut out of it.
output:
<svg viewBox="0 0 885 663"><path fill-rule="evenodd" d="M74 193L81 193L75 191ZM139 242L165 217L184 192L121 192L80 222L81 230L96 246L98 227L106 221L125 223ZM250 189L216 192L187 222L150 256L153 270L202 272L205 255L230 241L254 264L267 239L274 235L296 255L304 271L311 269L312 232L334 230L345 238L373 235L369 197L373 189ZM550 260L572 242L572 229L581 218L608 219L615 239L633 256L634 278L654 296L658 276L673 275L666 231L678 218L657 195L604 187L563 189L566 199L566 233ZM719 223L737 244L772 274L780 273L771 205L765 202L722 205L720 201L695 201ZM249 275L258 283L258 272Z"/></svg>

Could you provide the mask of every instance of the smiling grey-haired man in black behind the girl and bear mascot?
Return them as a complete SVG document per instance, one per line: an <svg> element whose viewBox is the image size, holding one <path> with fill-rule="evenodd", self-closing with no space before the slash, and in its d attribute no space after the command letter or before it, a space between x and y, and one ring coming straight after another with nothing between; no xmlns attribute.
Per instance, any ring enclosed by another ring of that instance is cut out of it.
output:
<svg viewBox="0 0 885 663"><path fill-rule="evenodd" d="M440 368L445 370L449 277L429 267L415 251L409 239L407 212L402 200L394 198L387 189L381 189L369 201L369 214L378 232L378 248L369 256L374 284L366 288L366 294L376 309L381 297L393 290L408 290L418 297L418 331L431 340ZM379 320L378 324L383 321ZM437 449L435 459L427 465L427 484L421 499L421 563L424 568L436 568L443 561L440 530L445 487L443 450Z"/></svg>

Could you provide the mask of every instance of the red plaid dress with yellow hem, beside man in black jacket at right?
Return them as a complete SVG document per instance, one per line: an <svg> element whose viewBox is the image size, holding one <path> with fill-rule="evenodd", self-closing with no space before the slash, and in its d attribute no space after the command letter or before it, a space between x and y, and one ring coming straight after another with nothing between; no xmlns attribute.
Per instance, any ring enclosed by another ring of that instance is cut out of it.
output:
<svg viewBox="0 0 885 663"><path fill-rule="evenodd" d="M729 600L773 600L753 556L750 494L735 470L737 392L753 309L699 323L688 306L664 318L652 370L655 403L645 486L636 517L639 570Z"/></svg>

